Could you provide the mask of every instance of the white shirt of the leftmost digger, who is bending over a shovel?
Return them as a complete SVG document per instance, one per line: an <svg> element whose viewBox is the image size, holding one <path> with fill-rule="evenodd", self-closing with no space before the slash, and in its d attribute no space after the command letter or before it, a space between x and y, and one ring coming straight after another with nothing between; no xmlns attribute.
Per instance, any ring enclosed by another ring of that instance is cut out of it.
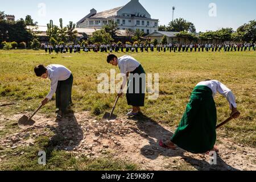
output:
<svg viewBox="0 0 256 182"><path fill-rule="evenodd" d="M67 80L71 76L71 71L59 64L48 65L46 69L48 71L48 78L51 80L51 91L46 98L51 100L53 94L56 92L58 81Z"/></svg>

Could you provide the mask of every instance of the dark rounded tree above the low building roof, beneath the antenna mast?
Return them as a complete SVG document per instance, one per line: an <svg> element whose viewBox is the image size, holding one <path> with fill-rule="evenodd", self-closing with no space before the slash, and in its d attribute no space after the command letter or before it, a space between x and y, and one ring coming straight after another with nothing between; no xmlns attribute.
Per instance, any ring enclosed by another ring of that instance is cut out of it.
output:
<svg viewBox="0 0 256 182"><path fill-rule="evenodd" d="M167 27L168 31L173 32L181 32L181 31L188 31L195 33L196 27L193 23L187 22L187 20L183 18L175 19L174 21L170 22Z"/></svg>

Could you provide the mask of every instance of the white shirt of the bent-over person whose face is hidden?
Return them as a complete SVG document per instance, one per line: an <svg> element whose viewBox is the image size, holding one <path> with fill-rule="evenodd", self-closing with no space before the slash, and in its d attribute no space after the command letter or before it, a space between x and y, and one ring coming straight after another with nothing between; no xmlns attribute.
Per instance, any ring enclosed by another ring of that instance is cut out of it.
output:
<svg viewBox="0 0 256 182"><path fill-rule="evenodd" d="M222 96L226 97L226 99L229 102L230 109L232 109L232 105L235 108L237 107L236 97L234 96L232 91L228 87L226 87L224 84L222 84L220 81L217 81L217 80L202 81L196 86L199 86L199 85L208 86L212 90L213 98L215 97L217 92L220 93Z"/></svg>

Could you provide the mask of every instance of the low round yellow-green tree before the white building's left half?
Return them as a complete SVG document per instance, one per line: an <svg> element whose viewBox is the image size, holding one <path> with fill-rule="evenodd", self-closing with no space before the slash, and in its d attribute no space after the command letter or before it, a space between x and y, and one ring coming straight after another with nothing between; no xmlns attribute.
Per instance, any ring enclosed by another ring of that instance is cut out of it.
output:
<svg viewBox="0 0 256 182"><path fill-rule="evenodd" d="M111 35L106 32L104 29L93 32L92 36L90 36L89 41L92 43L101 43L101 44L109 44L114 39L112 39Z"/></svg>

